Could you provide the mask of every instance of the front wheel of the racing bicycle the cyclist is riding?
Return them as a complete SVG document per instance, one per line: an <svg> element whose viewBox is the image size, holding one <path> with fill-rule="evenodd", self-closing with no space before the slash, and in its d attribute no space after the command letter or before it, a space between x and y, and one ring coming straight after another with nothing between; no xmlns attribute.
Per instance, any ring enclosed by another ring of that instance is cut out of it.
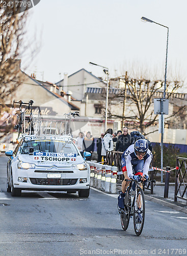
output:
<svg viewBox="0 0 187 256"><path fill-rule="evenodd" d="M133 224L135 228L135 233L140 236L144 227L145 220L145 199L142 188L137 191L137 197L135 206L133 208Z"/></svg>

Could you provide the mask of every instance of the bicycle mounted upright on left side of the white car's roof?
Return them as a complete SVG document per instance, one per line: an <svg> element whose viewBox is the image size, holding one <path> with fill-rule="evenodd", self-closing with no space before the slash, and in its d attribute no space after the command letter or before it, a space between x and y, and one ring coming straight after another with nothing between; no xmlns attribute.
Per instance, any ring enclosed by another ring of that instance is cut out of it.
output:
<svg viewBox="0 0 187 256"><path fill-rule="evenodd" d="M12 108L15 108L15 104L19 105L19 110L16 111L17 124L14 126L14 128L17 130L18 138L20 134L25 134L25 133L28 133L29 135L34 134L35 120L34 120L33 108L32 108L33 103L34 101L32 99L29 101L29 103L23 102L22 100L19 100L18 102L13 100ZM29 117L25 117L25 110L22 109L23 105L28 105L28 110L31 110ZM26 128L25 120L28 120L29 129Z"/></svg>

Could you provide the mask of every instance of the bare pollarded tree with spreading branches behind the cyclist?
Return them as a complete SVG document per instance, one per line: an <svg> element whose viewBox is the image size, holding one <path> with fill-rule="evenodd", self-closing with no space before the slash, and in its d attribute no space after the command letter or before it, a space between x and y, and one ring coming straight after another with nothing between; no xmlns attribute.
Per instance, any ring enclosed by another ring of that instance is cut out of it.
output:
<svg viewBox="0 0 187 256"><path fill-rule="evenodd" d="M124 86L118 94L112 96L110 104L116 104L116 100L118 100L118 103L121 102L123 111L114 114L109 110L109 117L121 118L125 122L133 121L134 126L139 127L141 133L145 133L147 127L158 121L158 115L154 115L153 98L163 97L164 81L130 78L127 73L115 80L123 82ZM182 85L182 82L178 80L167 81L166 98L173 97L174 92ZM177 115L182 109L183 106L180 106L173 115ZM125 122L122 122L122 125Z"/></svg>

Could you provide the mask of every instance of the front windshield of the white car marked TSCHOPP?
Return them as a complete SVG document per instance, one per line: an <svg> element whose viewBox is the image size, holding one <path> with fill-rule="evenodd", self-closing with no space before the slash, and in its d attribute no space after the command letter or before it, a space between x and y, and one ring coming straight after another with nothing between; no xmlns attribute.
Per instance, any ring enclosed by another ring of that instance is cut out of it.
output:
<svg viewBox="0 0 187 256"><path fill-rule="evenodd" d="M29 148L33 147L34 152L52 152L52 153L76 153L75 145L71 141L54 140L31 140L23 141L20 154L29 154Z"/></svg>

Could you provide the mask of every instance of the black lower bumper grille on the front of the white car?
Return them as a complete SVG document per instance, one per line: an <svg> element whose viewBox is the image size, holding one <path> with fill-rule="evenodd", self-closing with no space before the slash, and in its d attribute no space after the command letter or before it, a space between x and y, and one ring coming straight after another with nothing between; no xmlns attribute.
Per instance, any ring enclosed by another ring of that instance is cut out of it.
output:
<svg viewBox="0 0 187 256"><path fill-rule="evenodd" d="M75 185L78 179L37 179L37 178L30 178L30 181L34 185Z"/></svg>

